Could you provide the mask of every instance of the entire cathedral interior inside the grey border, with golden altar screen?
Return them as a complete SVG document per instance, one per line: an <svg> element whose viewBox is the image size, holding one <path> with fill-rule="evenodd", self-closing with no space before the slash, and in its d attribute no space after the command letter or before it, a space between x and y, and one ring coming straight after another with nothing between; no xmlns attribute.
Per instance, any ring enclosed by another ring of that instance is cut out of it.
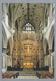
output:
<svg viewBox="0 0 56 81"><path fill-rule="evenodd" d="M2 4L2 77L54 78L55 4Z"/></svg>

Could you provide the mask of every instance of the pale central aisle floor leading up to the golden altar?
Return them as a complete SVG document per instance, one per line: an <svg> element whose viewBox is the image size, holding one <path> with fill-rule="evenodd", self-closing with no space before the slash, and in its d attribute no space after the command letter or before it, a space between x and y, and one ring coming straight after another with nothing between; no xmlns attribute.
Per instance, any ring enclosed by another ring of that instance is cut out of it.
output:
<svg viewBox="0 0 56 81"><path fill-rule="evenodd" d="M23 69L19 72L18 79L38 79L36 72L33 69Z"/></svg>

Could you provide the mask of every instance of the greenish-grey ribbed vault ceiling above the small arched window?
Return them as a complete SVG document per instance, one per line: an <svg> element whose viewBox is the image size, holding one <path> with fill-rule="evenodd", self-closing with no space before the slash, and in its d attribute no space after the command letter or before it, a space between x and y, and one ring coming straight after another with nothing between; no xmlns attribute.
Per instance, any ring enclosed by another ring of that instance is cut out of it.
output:
<svg viewBox="0 0 56 81"><path fill-rule="evenodd" d="M22 28L29 22L35 27L35 30L40 30L44 24L47 8L47 4L39 3L9 4L9 18L11 21L16 22L16 27Z"/></svg>

